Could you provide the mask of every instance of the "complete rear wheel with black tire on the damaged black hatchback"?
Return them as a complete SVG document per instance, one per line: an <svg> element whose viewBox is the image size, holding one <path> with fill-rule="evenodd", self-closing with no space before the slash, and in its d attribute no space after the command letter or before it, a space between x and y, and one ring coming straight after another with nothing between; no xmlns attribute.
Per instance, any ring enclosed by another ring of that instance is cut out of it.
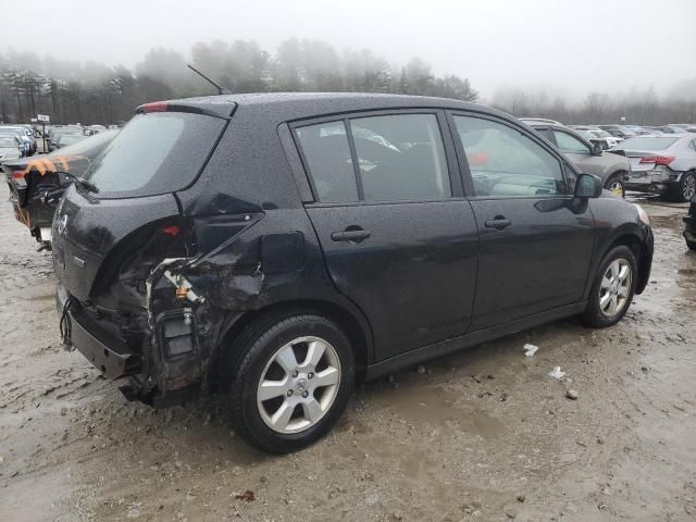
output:
<svg viewBox="0 0 696 522"><path fill-rule="evenodd" d="M323 437L348 403L355 362L339 325L311 312L272 313L234 343L227 410L252 446L296 451Z"/></svg>

